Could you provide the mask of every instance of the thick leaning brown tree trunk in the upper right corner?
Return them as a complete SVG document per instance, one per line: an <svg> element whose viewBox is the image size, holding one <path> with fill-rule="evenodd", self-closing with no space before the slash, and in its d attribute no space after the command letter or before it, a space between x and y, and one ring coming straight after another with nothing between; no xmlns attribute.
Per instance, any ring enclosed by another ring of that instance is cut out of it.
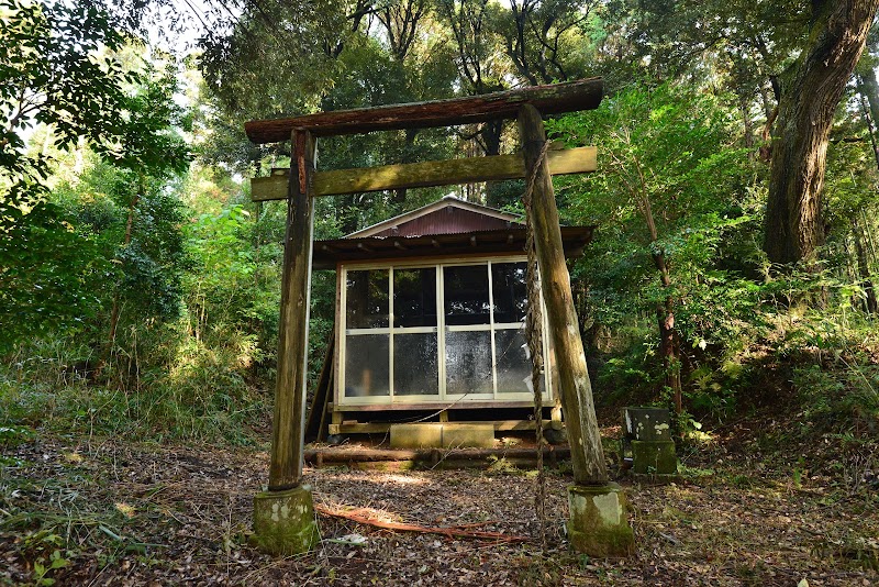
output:
<svg viewBox="0 0 879 587"><path fill-rule="evenodd" d="M772 141L764 250L772 263L809 259L824 242L827 139L879 0L813 0L808 46L782 84Z"/></svg>

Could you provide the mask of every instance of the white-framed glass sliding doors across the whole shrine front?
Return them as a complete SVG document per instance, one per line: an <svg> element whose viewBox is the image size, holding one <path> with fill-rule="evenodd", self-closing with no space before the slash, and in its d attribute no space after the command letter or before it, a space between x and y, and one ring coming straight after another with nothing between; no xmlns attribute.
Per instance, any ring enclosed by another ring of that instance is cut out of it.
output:
<svg viewBox="0 0 879 587"><path fill-rule="evenodd" d="M531 399L525 268L486 259L343 269L341 401Z"/></svg>

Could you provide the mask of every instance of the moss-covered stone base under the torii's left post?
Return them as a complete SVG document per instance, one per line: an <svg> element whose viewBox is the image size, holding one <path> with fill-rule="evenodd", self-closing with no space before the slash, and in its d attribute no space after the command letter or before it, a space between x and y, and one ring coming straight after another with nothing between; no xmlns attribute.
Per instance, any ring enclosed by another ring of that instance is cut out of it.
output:
<svg viewBox="0 0 879 587"><path fill-rule="evenodd" d="M302 554L320 539L311 487L263 491L254 497L253 541L259 550L275 555Z"/></svg>

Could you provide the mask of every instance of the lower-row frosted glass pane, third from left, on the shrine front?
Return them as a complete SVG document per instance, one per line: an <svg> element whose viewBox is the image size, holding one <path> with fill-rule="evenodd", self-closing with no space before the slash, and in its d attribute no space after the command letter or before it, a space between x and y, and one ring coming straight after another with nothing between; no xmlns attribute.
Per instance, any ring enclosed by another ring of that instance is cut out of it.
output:
<svg viewBox="0 0 879 587"><path fill-rule="evenodd" d="M491 392L491 332L447 332L446 394Z"/></svg>

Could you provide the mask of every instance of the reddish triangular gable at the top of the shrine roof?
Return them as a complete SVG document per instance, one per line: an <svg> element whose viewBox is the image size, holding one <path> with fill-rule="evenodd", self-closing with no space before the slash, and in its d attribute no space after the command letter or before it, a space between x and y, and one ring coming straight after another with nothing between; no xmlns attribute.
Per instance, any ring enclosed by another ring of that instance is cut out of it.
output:
<svg viewBox="0 0 879 587"><path fill-rule="evenodd" d="M442 200L400 214L390 220L353 232L346 239L367 236L429 236L437 234L461 234L520 226L522 220L510 214L476 203L446 196Z"/></svg>

